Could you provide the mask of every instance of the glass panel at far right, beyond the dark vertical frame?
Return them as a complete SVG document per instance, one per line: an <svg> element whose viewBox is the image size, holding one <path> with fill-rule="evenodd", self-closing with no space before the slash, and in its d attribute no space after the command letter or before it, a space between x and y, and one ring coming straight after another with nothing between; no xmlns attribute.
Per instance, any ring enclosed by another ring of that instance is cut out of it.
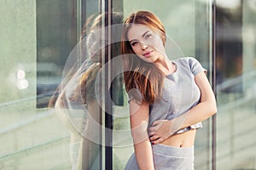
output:
<svg viewBox="0 0 256 170"><path fill-rule="evenodd" d="M217 1L217 169L255 169L256 1Z"/></svg>

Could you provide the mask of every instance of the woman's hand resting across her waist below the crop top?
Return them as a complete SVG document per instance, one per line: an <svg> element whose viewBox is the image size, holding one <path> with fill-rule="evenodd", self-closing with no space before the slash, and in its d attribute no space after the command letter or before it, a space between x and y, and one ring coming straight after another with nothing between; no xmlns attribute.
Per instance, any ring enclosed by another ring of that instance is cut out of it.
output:
<svg viewBox="0 0 256 170"><path fill-rule="evenodd" d="M172 135L172 120L158 120L149 127L149 139L152 144L160 144Z"/></svg>

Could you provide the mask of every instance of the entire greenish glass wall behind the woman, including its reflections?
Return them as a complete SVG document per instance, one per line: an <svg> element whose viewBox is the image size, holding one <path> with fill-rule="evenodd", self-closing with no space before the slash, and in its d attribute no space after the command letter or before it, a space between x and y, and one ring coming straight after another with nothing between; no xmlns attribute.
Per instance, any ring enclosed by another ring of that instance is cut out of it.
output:
<svg viewBox="0 0 256 170"><path fill-rule="evenodd" d="M117 35L137 10L162 20L170 59L195 57L216 87L195 169L256 168L255 0L2 0L0 169L124 169L133 145Z"/></svg>

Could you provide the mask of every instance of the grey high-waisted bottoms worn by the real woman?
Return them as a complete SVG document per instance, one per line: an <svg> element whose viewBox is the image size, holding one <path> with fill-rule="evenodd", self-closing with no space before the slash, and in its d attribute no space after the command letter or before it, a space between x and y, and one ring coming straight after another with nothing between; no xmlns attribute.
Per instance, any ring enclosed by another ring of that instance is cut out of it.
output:
<svg viewBox="0 0 256 170"><path fill-rule="evenodd" d="M194 147L179 148L164 144L152 145L155 170L194 170ZM125 170L139 170L133 153Z"/></svg>

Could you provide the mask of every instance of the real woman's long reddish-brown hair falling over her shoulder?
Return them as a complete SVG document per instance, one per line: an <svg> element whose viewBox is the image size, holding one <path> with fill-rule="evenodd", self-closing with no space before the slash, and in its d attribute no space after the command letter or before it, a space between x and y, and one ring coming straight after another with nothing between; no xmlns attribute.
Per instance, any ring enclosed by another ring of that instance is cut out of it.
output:
<svg viewBox="0 0 256 170"><path fill-rule="evenodd" d="M148 11L138 11L131 14L125 20L123 26L121 50L123 54L125 90L137 102L143 101L153 104L155 100L161 97L165 75L154 64L140 59L133 52L127 38L127 33L132 24L148 26L152 31L160 35L164 45L166 43L166 30L159 18ZM141 94L134 93L137 90L134 91L132 89L137 89Z"/></svg>

